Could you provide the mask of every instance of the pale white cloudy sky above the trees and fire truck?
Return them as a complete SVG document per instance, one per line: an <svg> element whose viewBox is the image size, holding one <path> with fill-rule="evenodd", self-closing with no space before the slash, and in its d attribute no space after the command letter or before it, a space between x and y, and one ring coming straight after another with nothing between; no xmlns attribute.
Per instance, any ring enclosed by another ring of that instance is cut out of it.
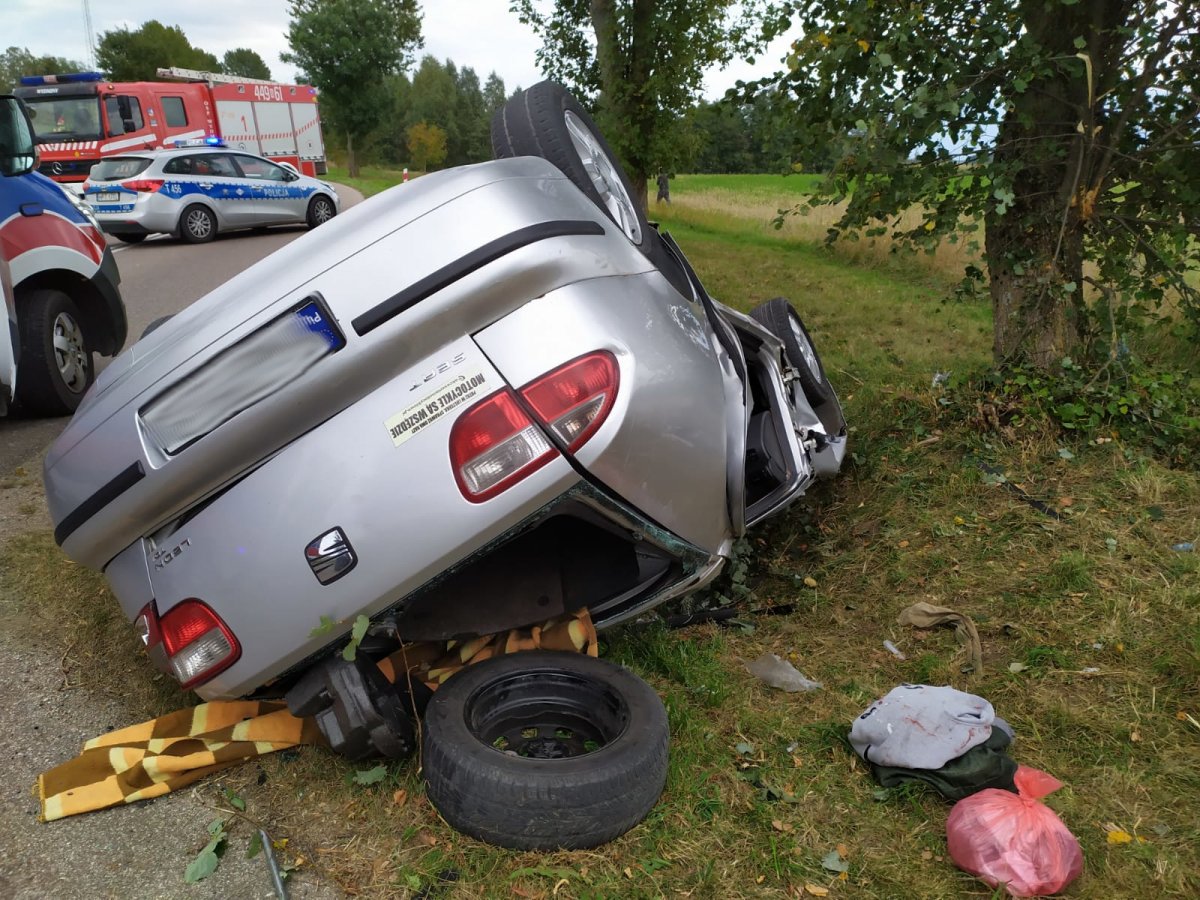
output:
<svg viewBox="0 0 1200 900"><path fill-rule="evenodd" d="M215 54L248 47L263 58L271 74L290 82L295 68L280 54L287 50L287 0L91 0L97 35L118 28L137 29L148 19L178 25L192 46ZM0 49L25 47L36 55L85 60L88 55L83 0L0 0ZM540 82L534 54L539 41L509 12L509 0L424 0L421 31L425 47L416 54L470 66L480 82L494 71L512 91ZM704 92L715 100L739 78L749 79L780 68L787 38L776 41L758 64L734 62L706 73Z"/></svg>

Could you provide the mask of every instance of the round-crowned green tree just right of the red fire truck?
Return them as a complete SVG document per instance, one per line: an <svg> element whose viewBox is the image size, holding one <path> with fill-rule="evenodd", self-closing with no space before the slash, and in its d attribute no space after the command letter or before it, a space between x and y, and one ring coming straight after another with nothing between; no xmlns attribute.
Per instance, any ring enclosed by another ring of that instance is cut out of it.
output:
<svg viewBox="0 0 1200 900"><path fill-rule="evenodd" d="M416 0L292 0L286 62L294 62L325 101L323 114L346 134L347 168L358 176L355 139L390 107L386 78L404 71L421 46Z"/></svg>

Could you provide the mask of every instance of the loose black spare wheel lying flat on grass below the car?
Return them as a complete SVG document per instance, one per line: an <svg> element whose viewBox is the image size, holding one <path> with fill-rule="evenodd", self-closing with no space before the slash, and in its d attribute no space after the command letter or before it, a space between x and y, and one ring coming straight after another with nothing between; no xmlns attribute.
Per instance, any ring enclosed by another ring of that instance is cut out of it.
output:
<svg viewBox="0 0 1200 900"><path fill-rule="evenodd" d="M595 847L653 809L668 739L662 701L620 666L550 650L497 656L430 701L425 790L446 822L488 844Z"/></svg>

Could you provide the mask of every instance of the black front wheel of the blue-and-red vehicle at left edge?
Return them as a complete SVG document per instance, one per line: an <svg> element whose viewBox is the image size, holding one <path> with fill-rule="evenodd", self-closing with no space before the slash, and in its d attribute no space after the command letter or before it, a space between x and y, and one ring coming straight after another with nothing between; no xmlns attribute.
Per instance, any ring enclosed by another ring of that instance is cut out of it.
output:
<svg viewBox="0 0 1200 900"><path fill-rule="evenodd" d="M13 406L24 415L71 415L96 377L91 342L61 290L29 292L18 306L20 361Z"/></svg>

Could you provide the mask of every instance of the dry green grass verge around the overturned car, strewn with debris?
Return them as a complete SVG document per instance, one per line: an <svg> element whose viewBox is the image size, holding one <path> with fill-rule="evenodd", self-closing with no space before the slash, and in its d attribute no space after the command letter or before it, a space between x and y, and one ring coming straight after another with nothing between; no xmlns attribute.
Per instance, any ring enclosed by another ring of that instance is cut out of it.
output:
<svg viewBox="0 0 1200 900"><path fill-rule="evenodd" d="M605 635L606 654L647 678L670 715L671 769L649 818L595 851L494 850L442 822L418 762L361 786L350 776L373 763L318 749L264 757L200 790L216 798L220 780L238 791L289 839L292 862L354 896L757 898L812 895L809 884L835 898L991 896L947 858L949 804L881 791L845 743L854 716L895 684L953 684L1015 726L1020 762L1064 782L1048 803L1084 848L1070 896L1200 894L1200 559L1170 548L1200 536L1200 479L1118 442L982 427L930 386L935 371L989 358L988 310L943 304L944 274L848 265L763 230L744 206L685 204L688 180L677 182L680 202L655 214L726 302L792 298L853 433L838 480L751 534L757 604L791 614ZM985 479L983 463L1060 517ZM131 716L170 706L157 685L139 686L151 670L102 580L66 565L48 535L23 536L2 558L5 582L19 587L5 600L12 617L31 629L72 623L47 629L49 640L91 648L92 689L133 691ZM952 630L896 624L919 600L973 617L983 673L961 672ZM823 689L787 695L756 682L743 661L764 652ZM67 677L82 671L67 664ZM1111 842L1112 829L1133 840ZM845 878L822 865L839 847Z"/></svg>

